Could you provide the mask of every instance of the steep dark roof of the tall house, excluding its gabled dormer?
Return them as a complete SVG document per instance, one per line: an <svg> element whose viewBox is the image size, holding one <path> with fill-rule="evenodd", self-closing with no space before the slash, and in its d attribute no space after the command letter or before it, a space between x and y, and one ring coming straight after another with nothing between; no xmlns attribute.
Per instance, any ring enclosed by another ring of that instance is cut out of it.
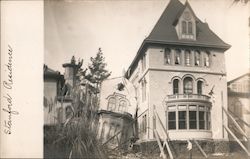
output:
<svg viewBox="0 0 250 159"><path fill-rule="evenodd" d="M184 9L189 7L193 12L188 2L183 5L179 0L170 0L168 6L162 13L158 22L152 29L149 36L143 41L140 49L133 62L130 65L131 71L138 61L138 57L145 46L148 44L170 44L170 45L183 45L183 46L198 46L227 50L230 45L221 40L210 28L207 23L203 23L198 17L196 20L196 40L179 39L175 30L175 25L178 22L179 17L183 13ZM127 77L128 77L127 72Z"/></svg>

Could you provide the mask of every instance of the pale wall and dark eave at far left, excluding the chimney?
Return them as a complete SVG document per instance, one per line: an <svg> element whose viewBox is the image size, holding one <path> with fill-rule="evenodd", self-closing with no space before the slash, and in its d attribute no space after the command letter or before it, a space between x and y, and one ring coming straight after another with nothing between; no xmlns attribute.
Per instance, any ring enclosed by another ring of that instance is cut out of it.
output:
<svg viewBox="0 0 250 159"><path fill-rule="evenodd" d="M44 124L53 125L58 123L58 100L64 83L63 75L58 71L50 69L47 65L43 67L44 78Z"/></svg>

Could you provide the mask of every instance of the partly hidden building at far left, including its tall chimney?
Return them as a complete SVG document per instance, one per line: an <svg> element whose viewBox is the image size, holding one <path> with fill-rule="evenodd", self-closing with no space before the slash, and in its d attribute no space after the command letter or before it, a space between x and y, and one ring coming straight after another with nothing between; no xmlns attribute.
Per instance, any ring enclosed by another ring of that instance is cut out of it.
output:
<svg viewBox="0 0 250 159"><path fill-rule="evenodd" d="M64 75L44 65L44 125L63 123L73 115L72 88L77 82L77 69L74 56L69 63L62 65Z"/></svg>

